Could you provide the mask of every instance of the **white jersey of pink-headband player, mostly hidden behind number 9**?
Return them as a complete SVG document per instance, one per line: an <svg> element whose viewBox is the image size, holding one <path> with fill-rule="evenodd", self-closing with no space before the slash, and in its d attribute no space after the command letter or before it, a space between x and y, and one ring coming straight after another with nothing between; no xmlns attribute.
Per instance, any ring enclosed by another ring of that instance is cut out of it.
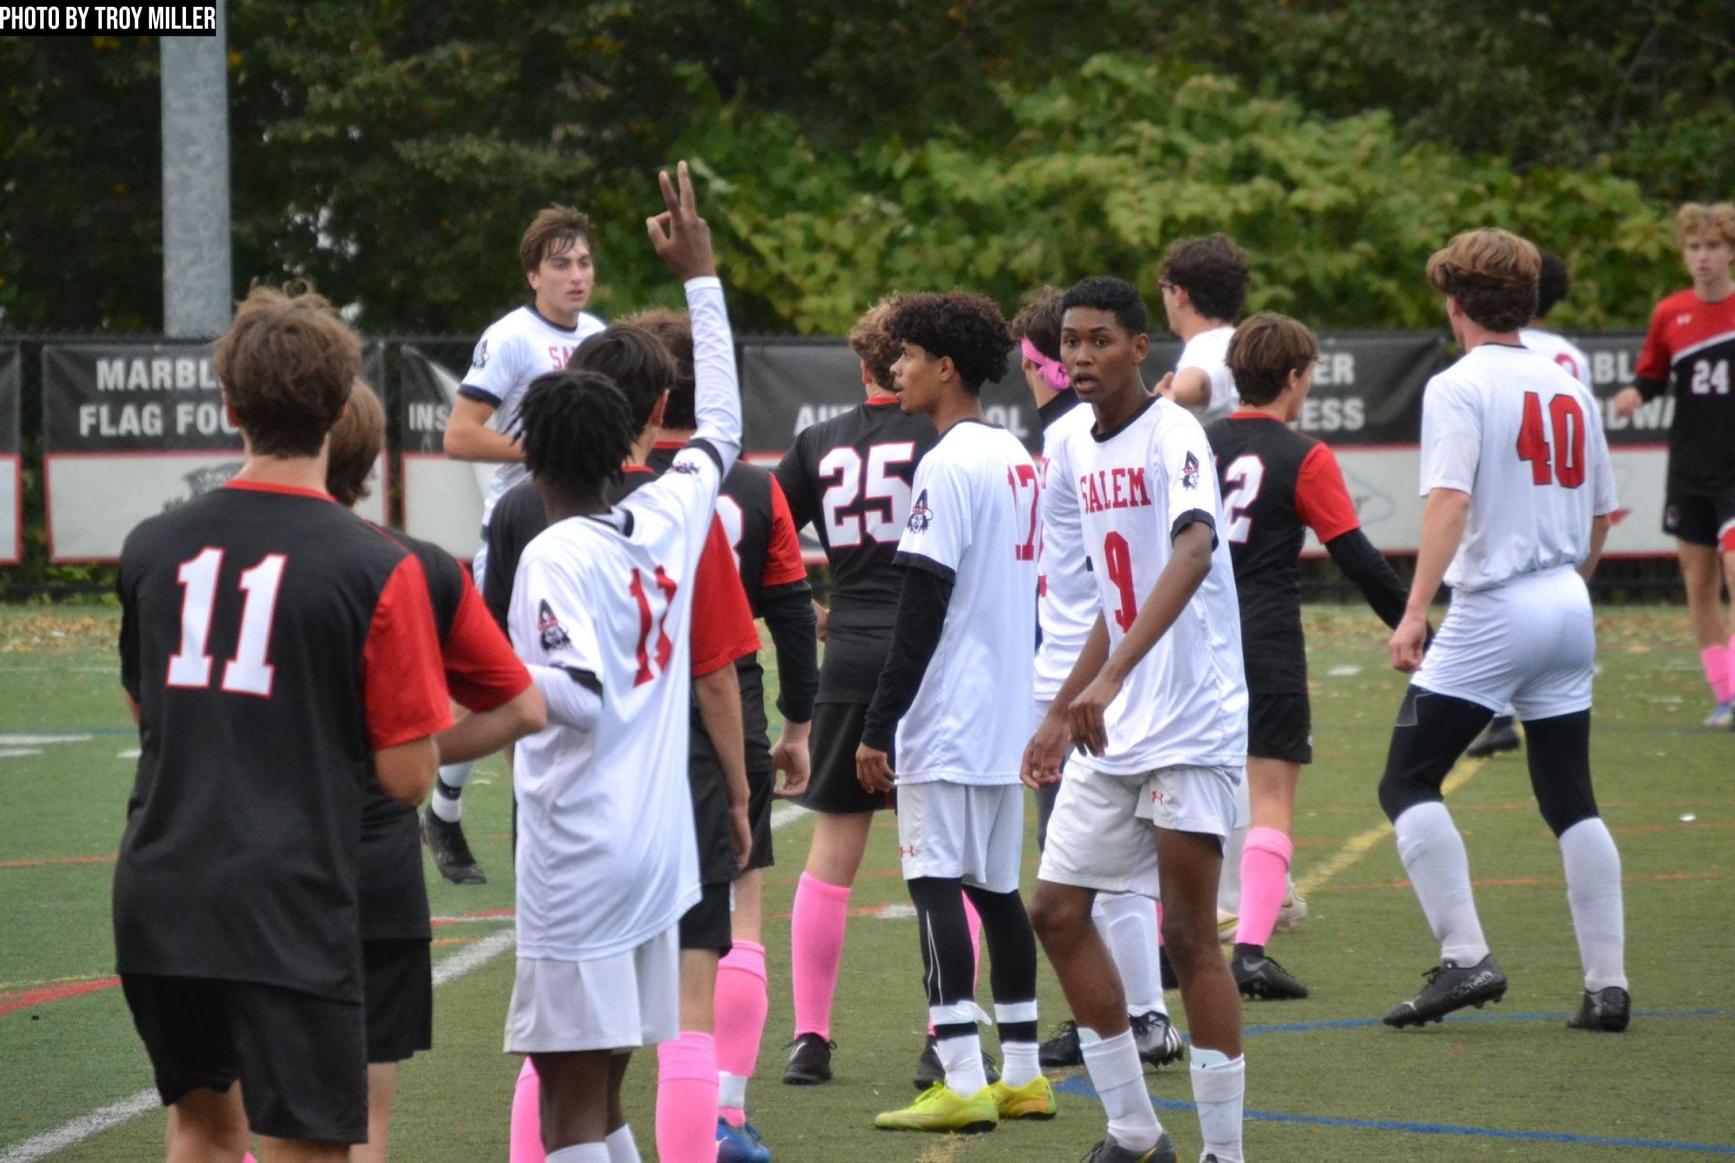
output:
<svg viewBox="0 0 1735 1163"><path fill-rule="evenodd" d="M1043 430L1043 533L1038 549L1041 590L1036 601L1036 620L1043 628L1043 644L1036 651L1039 703L1051 703L1060 693L1102 609L1097 601L1097 582L1084 566L1079 496L1074 490L1064 488L1065 481L1055 476L1055 462L1050 457L1050 450L1065 441L1069 432L1088 432L1091 424L1095 415L1090 406L1076 404Z"/></svg>

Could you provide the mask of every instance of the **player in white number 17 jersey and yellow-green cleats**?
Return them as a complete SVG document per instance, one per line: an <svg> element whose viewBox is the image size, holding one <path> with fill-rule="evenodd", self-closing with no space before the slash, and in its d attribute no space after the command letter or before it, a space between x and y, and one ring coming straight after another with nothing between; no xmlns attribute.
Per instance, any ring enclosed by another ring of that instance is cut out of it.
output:
<svg viewBox="0 0 1735 1163"><path fill-rule="evenodd" d="M897 788L899 852L946 1078L874 1125L992 1130L1003 1118L1055 1114L1036 1059L1036 936L1018 896L1039 486L1017 437L982 418L982 385L1006 373L999 309L980 295L909 295L887 330L904 349L892 365L899 406L926 415L940 437L916 465L895 559L904 583L892 651L855 767L869 793ZM966 894L994 963L1005 1061L992 1087L977 1035Z"/></svg>

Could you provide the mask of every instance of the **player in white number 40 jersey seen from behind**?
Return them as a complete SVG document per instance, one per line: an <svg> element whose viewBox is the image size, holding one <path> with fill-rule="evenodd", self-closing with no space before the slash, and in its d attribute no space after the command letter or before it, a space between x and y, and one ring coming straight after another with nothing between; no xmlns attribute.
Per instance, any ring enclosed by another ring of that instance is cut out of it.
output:
<svg viewBox="0 0 1735 1163"><path fill-rule="evenodd" d="M1631 1010L1620 856L1591 793L1596 632L1584 587L1615 510L1614 469L1596 398L1518 342L1535 314L1539 266L1535 246L1497 229L1466 231L1428 260L1464 358L1423 396L1428 502L1409 604L1391 635L1391 665L1414 677L1379 804L1440 941L1440 965L1386 1015L1391 1026L1506 993L1440 785L1508 703L1530 741L1537 807L1560 838L1584 962L1584 998L1568 1026L1620 1031ZM1442 582L1452 604L1424 656L1428 604Z"/></svg>

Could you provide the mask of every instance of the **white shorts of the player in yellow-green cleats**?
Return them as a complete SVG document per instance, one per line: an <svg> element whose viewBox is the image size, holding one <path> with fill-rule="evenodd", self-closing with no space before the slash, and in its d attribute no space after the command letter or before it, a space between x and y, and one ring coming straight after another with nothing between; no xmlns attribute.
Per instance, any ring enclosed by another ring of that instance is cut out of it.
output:
<svg viewBox="0 0 1735 1163"><path fill-rule="evenodd" d="M1024 863L1024 785L899 785L897 849L904 880L961 878L1012 892Z"/></svg>

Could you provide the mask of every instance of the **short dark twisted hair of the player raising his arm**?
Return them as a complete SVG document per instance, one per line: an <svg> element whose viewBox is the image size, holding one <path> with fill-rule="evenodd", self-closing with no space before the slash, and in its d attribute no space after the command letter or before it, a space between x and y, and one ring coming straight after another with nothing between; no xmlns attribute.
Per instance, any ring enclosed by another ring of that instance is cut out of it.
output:
<svg viewBox="0 0 1735 1163"><path fill-rule="evenodd" d="M519 404L524 467L574 496L592 496L621 479L638 430L626 396L600 371L536 377Z"/></svg>

